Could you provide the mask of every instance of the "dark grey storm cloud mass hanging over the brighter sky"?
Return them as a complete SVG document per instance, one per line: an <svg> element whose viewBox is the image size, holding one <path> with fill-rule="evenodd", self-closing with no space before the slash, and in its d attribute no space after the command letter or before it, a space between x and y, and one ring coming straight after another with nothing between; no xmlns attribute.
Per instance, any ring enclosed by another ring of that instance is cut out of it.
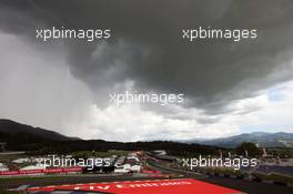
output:
<svg viewBox="0 0 293 194"><path fill-rule="evenodd" d="M109 42L67 42L71 73L97 101L133 81L135 90L184 93L209 114L290 80L284 69L293 39L291 0L97 1L1 0L1 29L32 40L36 28L110 28ZM257 29L256 40L182 40L183 28ZM287 67L289 68L289 67Z"/></svg>

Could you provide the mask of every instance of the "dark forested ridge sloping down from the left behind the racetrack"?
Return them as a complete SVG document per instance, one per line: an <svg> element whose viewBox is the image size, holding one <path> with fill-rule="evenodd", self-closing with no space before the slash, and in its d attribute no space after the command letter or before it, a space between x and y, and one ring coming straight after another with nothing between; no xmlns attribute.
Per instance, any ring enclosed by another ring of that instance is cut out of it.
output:
<svg viewBox="0 0 293 194"><path fill-rule="evenodd" d="M112 142L104 140L82 140L61 135L57 132L20 124L10 120L0 120L0 142L4 142L6 151L26 151L31 155L46 154L71 154L79 151L108 152L109 150L165 150L172 155L190 154L214 155L219 147L186 144L175 141L152 141L152 142ZM185 151L185 152L182 152Z"/></svg>

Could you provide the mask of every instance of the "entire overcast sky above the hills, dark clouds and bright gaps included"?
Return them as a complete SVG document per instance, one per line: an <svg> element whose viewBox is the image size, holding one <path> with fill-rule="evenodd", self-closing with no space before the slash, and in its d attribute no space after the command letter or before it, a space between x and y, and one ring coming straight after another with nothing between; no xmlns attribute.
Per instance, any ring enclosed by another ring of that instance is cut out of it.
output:
<svg viewBox="0 0 293 194"><path fill-rule="evenodd" d="M198 27L255 40L185 42ZM41 42L36 29L111 29ZM293 132L291 0L0 0L0 118L115 141ZM109 103L109 93L183 93L189 103Z"/></svg>

